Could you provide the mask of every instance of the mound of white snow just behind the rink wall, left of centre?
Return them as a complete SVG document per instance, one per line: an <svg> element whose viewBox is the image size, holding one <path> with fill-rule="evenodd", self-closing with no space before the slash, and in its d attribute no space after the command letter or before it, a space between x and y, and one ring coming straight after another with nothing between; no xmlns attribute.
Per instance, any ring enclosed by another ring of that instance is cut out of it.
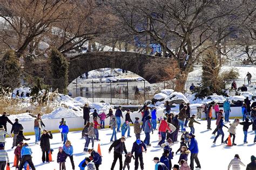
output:
<svg viewBox="0 0 256 170"><path fill-rule="evenodd" d="M82 112L76 112L68 108L59 107L49 114L42 115L42 119L61 119L61 118L74 118L74 117L82 117L82 116L83 116Z"/></svg>

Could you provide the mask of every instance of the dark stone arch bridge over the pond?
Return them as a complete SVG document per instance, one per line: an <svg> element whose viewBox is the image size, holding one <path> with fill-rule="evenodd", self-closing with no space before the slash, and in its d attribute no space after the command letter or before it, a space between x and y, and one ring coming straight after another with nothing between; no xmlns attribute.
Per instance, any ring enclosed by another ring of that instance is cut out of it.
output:
<svg viewBox="0 0 256 170"><path fill-rule="evenodd" d="M159 62L170 62L170 58L154 57L144 55L142 53L122 51L89 52L82 55L68 57L68 60L70 63L69 83L85 72L107 67L129 70L143 77L150 83L156 83L159 81L159 78L155 78L154 75L145 76L144 65L151 63L153 60Z"/></svg>

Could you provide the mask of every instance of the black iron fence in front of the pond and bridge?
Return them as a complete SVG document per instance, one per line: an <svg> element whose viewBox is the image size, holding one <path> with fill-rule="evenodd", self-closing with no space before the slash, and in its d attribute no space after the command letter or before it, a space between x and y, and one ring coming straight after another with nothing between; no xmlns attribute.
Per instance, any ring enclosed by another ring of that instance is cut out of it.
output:
<svg viewBox="0 0 256 170"><path fill-rule="evenodd" d="M63 89L62 80L44 80L46 84L51 87L59 87ZM256 93L256 78L251 79L251 83L248 84L247 79L235 79L237 90L231 87L233 80L225 80L219 82L218 85L229 91L229 96L235 96L236 93L241 92L243 84L246 85L247 92ZM177 92L191 93L190 86L200 86L201 79L187 79L181 80L168 80L160 83L150 84L147 81L122 81L122 82L100 82L99 80L80 79L73 80L68 85L69 96L85 97L92 102L107 102L114 105L140 105L146 100L151 100L154 94L159 93L164 89L173 89ZM23 83L23 86L31 86L31 84ZM54 89L52 89L53 91ZM62 91L59 91L60 93Z"/></svg>

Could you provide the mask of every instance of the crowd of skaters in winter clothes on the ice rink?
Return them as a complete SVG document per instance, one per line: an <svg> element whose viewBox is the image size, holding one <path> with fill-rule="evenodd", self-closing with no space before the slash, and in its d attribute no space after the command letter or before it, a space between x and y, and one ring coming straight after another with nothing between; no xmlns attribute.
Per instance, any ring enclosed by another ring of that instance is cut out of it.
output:
<svg viewBox="0 0 256 170"><path fill-rule="evenodd" d="M246 101L248 102L248 101ZM249 104L250 106L250 104ZM181 103L179 114L174 115L171 113L171 107L169 102L165 103L165 116L157 118L156 107L148 107L146 105L139 111L143 113L142 117L142 126L139 124L139 118L136 117L133 121L130 117L130 110L127 110L125 117L123 117L122 107L119 106L114 114L112 109L109 110L108 114L104 112L98 114L97 110L94 110L93 113L90 113L90 107L88 104L84 106L84 130L82 131L82 138L85 138L85 146L84 152L89 153L90 157L86 157L80 164L79 168L95 170L99 169L99 166L102 164L102 157L98 152L96 152L94 147L94 141L99 141L99 131L98 126L100 128L105 128L105 119L110 117L110 128L112 130L112 136L110 142L112 142L109 153L113 149L113 163L111 169L114 169L117 160L119 159L119 169L130 169L130 163L132 159L134 159L135 169L144 169L144 161L143 154L146 154L147 147L150 147L150 135L155 134L159 137L158 146L163 148L163 154L161 157L154 157L153 162L156 164L155 169L194 169L194 161L196 162L196 168L201 168L200 161L198 158L199 148L196 139L195 129L193 124L200 124L195 120L195 115L191 115L190 104ZM255 113L256 107L248 108L245 105L242 106L242 115L243 121L240 122L239 119L234 119L232 123L230 123L228 117L230 114L230 103L228 100L224 103L224 110L220 110L217 103L214 105L208 105L205 107L206 120L207 120L207 130L211 129L211 120L212 113L215 110L215 118L216 128L213 131L213 135L217 132L217 135L214 138L213 143L215 144L217 138L221 134L221 143L225 144L227 139L224 141L224 132L223 127L228 128L228 132L230 136L233 138L232 145L235 144L235 131L236 126L242 125L244 131L244 142L247 143L247 131L250 125L252 125L252 130L255 132L254 142L256 142L256 121L255 121ZM251 114L250 114L251 112ZM245 117L244 117L245 114ZM93 121L90 122L90 115L93 117ZM98 118L100 123L98 123ZM123 125L121 124L121 118L125 119ZM225 118L225 120L224 120ZM251 122L250 122L251 119ZM159 125L157 126L157 121ZM12 123L6 116L4 112L0 117L0 170L4 169L6 164L9 165L9 157L7 152L5 151L5 135L11 134L7 133L6 124L10 123L12 125L11 133L13 133L13 144L12 148L15 148L14 154L16 157L16 169L25 169L28 164L31 169L36 169L32 162L32 150L29 147L28 143L24 142L24 140L30 140L29 138L25 138L23 135L23 126L19 123L18 119L15 119L15 123ZM127 138L131 137L130 132L130 123L134 124L134 135L136 136L136 141L134 141L133 146L131 148L131 152L126 151L125 140L126 140L126 132ZM230 127L226 126L225 123L230 123ZM186 131L186 127L190 127L190 132ZM51 131L47 131L44 129L45 125L42 121L41 114L37 115L37 118L34 121L34 130L35 130L35 144L40 144L42 149L42 162L49 163L49 154L52 152L50 147L50 139L52 139ZM59 151L57 154L57 162L59 164L59 169L66 169L65 162L69 157L72 165L72 169L75 169L75 164L73 161L73 146L71 145L71 141L68 140L69 126L67 125L64 118L59 122L59 130L61 133L61 140L63 141L63 146L59 147ZM42 131L42 134L41 134ZM141 133L144 131L145 138L142 137ZM117 133L121 132L122 137L117 139ZM180 142L178 141L178 133L181 133ZM151 134L152 133L152 134ZM144 138L144 140L142 139ZM89 149L89 145L91 142L91 147ZM172 151L172 145L180 143L180 147L178 151ZM125 152L125 160L123 164L123 152ZM176 155L175 155L175 154ZM174 156L180 153L178 164L172 165L172 159ZM190 154L190 159L188 159L188 155ZM252 162L247 165L248 169L253 169L256 166L255 157L251 157ZM188 165L188 162L190 164ZM234 159L231 160L228 168L231 166L239 167L245 166L239 158L239 155L236 154Z"/></svg>

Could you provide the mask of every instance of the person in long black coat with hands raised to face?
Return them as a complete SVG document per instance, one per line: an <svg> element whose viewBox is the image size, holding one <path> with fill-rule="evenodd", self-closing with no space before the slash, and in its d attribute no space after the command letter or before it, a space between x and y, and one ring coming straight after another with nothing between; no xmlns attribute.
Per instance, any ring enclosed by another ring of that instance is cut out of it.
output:
<svg viewBox="0 0 256 170"><path fill-rule="evenodd" d="M43 130L43 134L42 134L41 140L40 140L40 147L43 152L43 154L42 154L43 163L45 161L50 162L49 161L50 139L52 139L51 131L47 132L47 130ZM45 158L45 154L46 154L46 158Z"/></svg>

